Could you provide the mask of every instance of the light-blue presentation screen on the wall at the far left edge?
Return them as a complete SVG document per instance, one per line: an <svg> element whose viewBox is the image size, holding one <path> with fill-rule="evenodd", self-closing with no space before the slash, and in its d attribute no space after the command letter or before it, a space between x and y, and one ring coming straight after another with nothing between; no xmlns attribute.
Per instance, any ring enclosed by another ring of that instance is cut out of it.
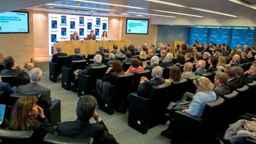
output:
<svg viewBox="0 0 256 144"><path fill-rule="evenodd" d="M0 14L0 33L28 33L28 12Z"/></svg>

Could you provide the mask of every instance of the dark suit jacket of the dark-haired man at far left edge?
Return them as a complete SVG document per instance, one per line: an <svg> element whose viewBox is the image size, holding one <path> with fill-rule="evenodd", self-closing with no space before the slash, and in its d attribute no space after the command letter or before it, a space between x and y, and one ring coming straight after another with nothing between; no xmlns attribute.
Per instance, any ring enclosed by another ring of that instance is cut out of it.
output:
<svg viewBox="0 0 256 144"><path fill-rule="evenodd" d="M14 74L14 75L17 74L20 85L27 84L30 82L30 77L28 73L22 70L12 69L12 68L4 69L1 71L1 75L4 75L4 74Z"/></svg>

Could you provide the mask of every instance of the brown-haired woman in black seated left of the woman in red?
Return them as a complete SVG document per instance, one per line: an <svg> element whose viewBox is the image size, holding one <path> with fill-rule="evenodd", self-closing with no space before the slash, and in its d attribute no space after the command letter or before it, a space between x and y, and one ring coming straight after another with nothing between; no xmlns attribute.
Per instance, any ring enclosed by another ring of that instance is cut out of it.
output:
<svg viewBox="0 0 256 144"><path fill-rule="evenodd" d="M112 62L112 67L108 68L108 70L106 71L106 73L102 78L102 81L110 82L111 84L114 84L116 80L116 75L122 75L122 74L124 74L122 63L119 60L114 60Z"/></svg>

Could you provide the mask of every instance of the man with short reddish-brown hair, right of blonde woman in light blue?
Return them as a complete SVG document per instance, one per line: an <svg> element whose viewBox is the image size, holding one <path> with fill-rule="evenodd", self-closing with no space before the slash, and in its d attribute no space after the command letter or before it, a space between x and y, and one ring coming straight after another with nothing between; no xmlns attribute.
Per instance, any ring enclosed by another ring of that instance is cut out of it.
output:
<svg viewBox="0 0 256 144"><path fill-rule="evenodd" d="M228 76L224 72L218 72L214 78L215 88L212 90L216 96L224 96L230 94L230 90L226 85L228 82Z"/></svg>

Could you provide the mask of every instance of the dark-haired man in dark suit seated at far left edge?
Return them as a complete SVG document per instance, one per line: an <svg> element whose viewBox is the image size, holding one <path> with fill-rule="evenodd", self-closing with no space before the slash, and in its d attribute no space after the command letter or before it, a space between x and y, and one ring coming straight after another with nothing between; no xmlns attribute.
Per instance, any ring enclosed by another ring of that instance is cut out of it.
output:
<svg viewBox="0 0 256 144"><path fill-rule="evenodd" d="M28 73L24 70L23 66L14 66L14 59L12 56L8 56L4 59L5 69L1 71L1 75L18 75L19 85L27 84L30 82Z"/></svg>

